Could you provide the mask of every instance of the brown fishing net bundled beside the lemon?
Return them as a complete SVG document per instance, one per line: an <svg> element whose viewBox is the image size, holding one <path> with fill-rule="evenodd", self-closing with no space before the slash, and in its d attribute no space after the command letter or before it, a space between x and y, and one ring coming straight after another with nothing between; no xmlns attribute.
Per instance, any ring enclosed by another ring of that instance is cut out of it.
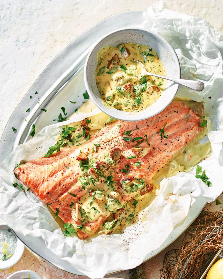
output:
<svg viewBox="0 0 223 279"><path fill-rule="evenodd" d="M199 278L223 246L223 210L202 211L186 231L181 247L168 251L160 279Z"/></svg>

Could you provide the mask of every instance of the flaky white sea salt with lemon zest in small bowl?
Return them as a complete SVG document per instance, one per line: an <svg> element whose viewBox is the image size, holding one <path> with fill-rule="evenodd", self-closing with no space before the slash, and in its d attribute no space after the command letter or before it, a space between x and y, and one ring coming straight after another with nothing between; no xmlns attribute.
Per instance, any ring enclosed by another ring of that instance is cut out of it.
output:
<svg viewBox="0 0 223 279"><path fill-rule="evenodd" d="M0 230L0 260L8 260L16 249L16 237L10 229Z"/></svg>

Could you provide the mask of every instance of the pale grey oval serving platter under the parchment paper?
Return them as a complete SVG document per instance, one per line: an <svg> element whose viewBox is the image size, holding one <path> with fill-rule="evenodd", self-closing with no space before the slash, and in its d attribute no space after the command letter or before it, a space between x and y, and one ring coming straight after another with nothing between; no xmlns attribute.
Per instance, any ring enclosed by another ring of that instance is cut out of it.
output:
<svg viewBox="0 0 223 279"><path fill-rule="evenodd" d="M19 144L29 139L34 123L37 133L45 126L55 123L53 119L58 118L62 106L66 108L67 115L71 115L86 101L83 95L86 90L83 66L91 46L101 37L116 29L140 26L143 22L142 16L143 11L126 11L107 17L75 38L52 60L12 113L0 141L1 161ZM27 107L30 108L28 117ZM47 110L47 112L41 109ZM24 121L25 118L27 121ZM12 133L12 126L19 127L17 133ZM158 249L148 253L144 261L154 257L177 239L199 215L205 204L206 201L199 197L192 205L185 222L173 230ZM15 233L30 250L46 261L66 272L84 275L69 262L51 253L42 239L27 238L21 233ZM112 267L109 269L109 273L117 271L119 270L114 270Z"/></svg>

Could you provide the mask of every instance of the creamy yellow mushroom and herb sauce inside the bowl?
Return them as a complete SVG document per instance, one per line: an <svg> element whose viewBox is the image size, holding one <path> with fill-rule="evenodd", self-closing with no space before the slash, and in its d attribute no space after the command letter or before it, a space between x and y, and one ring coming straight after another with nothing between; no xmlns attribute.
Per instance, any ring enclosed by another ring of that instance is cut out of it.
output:
<svg viewBox="0 0 223 279"><path fill-rule="evenodd" d="M103 103L108 108L138 112L151 106L165 89L165 80L143 76L147 71L166 76L163 63L154 49L140 44L121 44L98 53L96 83Z"/></svg>

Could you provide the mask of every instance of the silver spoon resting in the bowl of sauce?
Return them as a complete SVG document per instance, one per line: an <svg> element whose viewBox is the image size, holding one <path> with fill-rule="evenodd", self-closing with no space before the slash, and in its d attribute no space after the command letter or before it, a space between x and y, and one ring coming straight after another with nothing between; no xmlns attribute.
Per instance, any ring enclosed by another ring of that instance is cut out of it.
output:
<svg viewBox="0 0 223 279"><path fill-rule="evenodd" d="M145 66L143 65L143 63L137 61L137 60L134 60L135 62L137 63L140 63L142 66L143 66L143 75L149 75L149 76L157 76L158 78L164 78L164 79L168 79L169 81L173 81L175 83L179 83L181 85L184 85L186 87L189 87L193 90L196 90L196 91L202 91L204 89L204 83L201 82L201 81L190 81L188 79L181 79L181 78L168 78L167 76L160 76L160 75L157 75L157 74L153 74L153 73L150 73L148 71L146 71L145 69Z"/></svg>

